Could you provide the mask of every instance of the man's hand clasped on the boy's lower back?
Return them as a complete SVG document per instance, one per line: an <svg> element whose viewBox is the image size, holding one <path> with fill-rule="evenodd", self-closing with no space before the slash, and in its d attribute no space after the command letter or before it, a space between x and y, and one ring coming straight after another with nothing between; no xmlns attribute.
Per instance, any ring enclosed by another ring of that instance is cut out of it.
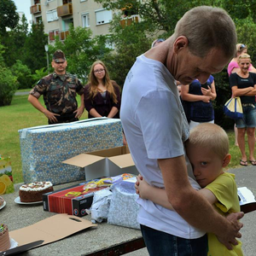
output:
<svg viewBox="0 0 256 256"><path fill-rule="evenodd" d="M229 250L232 250L232 245L237 245L236 237L240 238L241 233L239 232L243 226L242 223L238 222L244 216L243 212L230 213L227 219L230 221L230 230L226 230L223 236L217 236L218 241L224 244Z"/></svg>

